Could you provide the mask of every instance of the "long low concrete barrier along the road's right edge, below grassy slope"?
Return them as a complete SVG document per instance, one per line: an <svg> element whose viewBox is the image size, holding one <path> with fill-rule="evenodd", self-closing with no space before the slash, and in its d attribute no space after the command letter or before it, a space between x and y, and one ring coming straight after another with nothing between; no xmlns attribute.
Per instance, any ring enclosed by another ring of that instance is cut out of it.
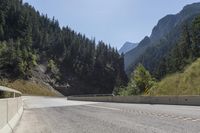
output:
<svg viewBox="0 0 200 133"><path fill-rule="evenodd" d="M200 105L200 96L69 96L68 100L139 104Z"/></svg>

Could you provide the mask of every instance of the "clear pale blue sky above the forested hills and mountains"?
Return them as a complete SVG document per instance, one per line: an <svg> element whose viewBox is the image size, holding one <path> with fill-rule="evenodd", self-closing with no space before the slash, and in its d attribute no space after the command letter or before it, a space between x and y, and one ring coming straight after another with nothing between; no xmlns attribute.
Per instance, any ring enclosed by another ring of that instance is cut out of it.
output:
<svg viewBox="0 0 200 133"><path fill-rule="evenodd" d="M120 48L150 35L158 20L200 0L24 0L89 38Z"/></svg>

